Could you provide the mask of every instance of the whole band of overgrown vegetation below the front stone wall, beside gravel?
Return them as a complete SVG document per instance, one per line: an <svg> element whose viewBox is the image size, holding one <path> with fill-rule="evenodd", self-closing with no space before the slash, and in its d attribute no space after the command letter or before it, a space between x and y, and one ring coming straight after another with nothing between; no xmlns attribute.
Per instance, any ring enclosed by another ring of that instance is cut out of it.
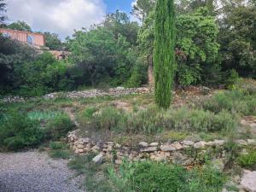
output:
<svg viewBox="0 0 256 192"><path fill-rule="evenodd" d="M84 174L84 185L90 191L201 191L217 192L223 188L226 177L206 165L190 171L182 166L152 161L128 162L115 168L98 166L91 162L93 154L76 156L69 167Z"/></svg>

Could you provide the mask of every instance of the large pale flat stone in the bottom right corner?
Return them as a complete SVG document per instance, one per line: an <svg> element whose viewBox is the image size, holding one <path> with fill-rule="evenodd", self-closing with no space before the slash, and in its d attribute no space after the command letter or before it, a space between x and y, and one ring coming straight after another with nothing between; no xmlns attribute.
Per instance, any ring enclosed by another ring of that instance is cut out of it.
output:
<svg viewBox="0 0 256 192"><path fill-rule="evenodd" d="M244 170L244 175L241 177L242 189L250 192L256 192L256 172Z"/></svg>

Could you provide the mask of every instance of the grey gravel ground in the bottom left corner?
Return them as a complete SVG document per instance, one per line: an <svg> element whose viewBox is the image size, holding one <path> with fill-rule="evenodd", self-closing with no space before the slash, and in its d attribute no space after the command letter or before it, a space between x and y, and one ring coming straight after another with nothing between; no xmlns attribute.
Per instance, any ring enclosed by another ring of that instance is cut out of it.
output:
<svg viewBox="0 0 256 192"><path fill-rule="evenodd" d="M49 159L46 153L0 153L0 192L81 192L66 160Z"/></svg>

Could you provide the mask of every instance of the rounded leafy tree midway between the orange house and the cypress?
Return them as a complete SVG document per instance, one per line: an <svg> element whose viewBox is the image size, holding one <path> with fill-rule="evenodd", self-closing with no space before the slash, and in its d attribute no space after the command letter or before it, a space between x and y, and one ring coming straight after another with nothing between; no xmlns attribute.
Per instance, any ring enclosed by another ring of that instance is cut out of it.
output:
<svg viewBox="0 0 256 192"><path fill-rule="evenodd" d="M67 45L73 53L71 61L79 68L73 69L78 84L84 81L84 84L92 86L100 82L117 85L130 77L134 61L131 44L122 35L116 39L108 28L98 26L89 32L75 32Z"/></svg>

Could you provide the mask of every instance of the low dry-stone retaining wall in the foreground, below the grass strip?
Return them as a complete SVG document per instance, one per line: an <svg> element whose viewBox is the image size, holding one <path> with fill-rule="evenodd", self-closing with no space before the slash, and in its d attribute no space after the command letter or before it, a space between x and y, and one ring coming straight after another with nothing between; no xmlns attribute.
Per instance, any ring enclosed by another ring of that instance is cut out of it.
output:
<svg viewBox="0 0 256 192"><path fill-rule="evenodd" d="M222 148L225 143L224 140L217 139L212 142L193 142L188 140L173 143L140 142L136 147L131 148L131 146L121 146L119 143L96 142L90 138L80 138L76 136L76 131L72 131L68 134L67 141L75 151L75 154L87 154L94 152L101 154L108 160L113 160L113 155L115 155L114 159L116 159L116 164L121 164L124 158L134 161L147 158L157 161L170 159L173 160L173 154L181 156L179 152L182 152L186 148L194 148L195 150L200 151L206 148ZM254 139L247 139L247 141L236 140L236 143L239 146L256 146L256 140ZM223 154L225 154L224 149Z"/></svg>

